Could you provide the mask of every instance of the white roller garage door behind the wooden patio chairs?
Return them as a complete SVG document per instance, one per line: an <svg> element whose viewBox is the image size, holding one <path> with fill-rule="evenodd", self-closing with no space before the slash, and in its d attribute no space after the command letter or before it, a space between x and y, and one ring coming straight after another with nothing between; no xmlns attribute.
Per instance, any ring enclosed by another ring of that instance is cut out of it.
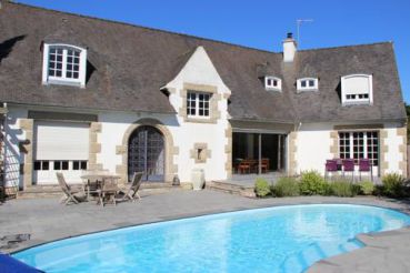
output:
<svg viewBox="0 0 410 273"><path fill-rule="evenodd" d="M36 121L33 182L56 184L56 172L68 182L81 182L89 156L88 123Z"/></svg>

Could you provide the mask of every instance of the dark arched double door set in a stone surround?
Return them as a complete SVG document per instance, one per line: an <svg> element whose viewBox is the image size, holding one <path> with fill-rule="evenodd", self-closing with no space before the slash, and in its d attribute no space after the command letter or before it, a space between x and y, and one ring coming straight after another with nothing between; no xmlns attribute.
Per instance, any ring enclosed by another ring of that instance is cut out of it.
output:
<svg viewBox="0 0 410 273"><path fill-rule="evenodd" d="M143 181L163 181L164 140L153 127L139 127L128 141L128 179L134 172L143 172Z"/></svg>

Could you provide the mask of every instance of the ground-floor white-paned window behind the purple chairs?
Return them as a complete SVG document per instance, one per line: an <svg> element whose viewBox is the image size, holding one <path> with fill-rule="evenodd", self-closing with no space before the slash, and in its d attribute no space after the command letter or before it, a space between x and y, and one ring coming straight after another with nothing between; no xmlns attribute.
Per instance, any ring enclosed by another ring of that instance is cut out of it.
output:
<svg viewBox="0 0 410 273"><path fill-rule="evenodd" d="M372 165L379 165L379 134L368 132L339 132L340 159L369 159Z"/></svg>

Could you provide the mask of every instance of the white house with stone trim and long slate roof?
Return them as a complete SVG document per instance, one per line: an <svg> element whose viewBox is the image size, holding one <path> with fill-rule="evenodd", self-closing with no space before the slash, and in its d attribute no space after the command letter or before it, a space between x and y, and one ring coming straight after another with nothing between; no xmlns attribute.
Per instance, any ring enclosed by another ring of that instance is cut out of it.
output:
<svg viewBox="0 0 410 273"><path fill-rule="evenodd" d="M278 42L279 39L278 39ZM126 182L190 183L236 173L323 172L369 159L407 174L393 44L283 52L1 2L6 185L69 183L84 169ZM253 166L238 169L243 160Z"/></svg>

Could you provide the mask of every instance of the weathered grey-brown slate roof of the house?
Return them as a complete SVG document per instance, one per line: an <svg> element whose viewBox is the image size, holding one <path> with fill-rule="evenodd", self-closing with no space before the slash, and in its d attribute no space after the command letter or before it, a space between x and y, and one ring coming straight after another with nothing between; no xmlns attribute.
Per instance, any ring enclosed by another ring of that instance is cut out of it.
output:
<svg viewBox="0 0 410 273"><path fill-rule="evenodd" d="M87 88L42 85L44 41L88 48ZM303 50L292 64L282 53L127 23L3 3L0 9L0 101L80 109L173 113L160 91L204 47L232 91L232 119L299 121L404 120L392 43ZM261 74L283 79L266 91ZM342 107L340 77L373 74L374 105ZM319 92L297 93L296 80L318 77Z"/></svg>

